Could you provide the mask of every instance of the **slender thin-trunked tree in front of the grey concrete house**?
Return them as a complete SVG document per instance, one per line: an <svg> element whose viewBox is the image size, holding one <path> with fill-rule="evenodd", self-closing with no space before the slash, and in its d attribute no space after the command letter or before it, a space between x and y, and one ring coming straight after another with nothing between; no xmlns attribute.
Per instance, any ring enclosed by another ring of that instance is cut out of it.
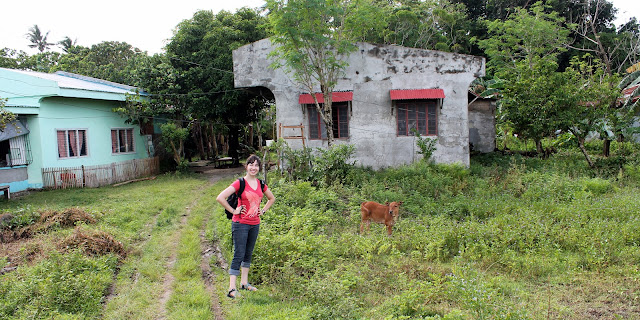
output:
<svg viewBox="0 0 640 320"><path fill-rule="evenodd" d="M367 0L267 0L269 23L276 44L274 68L283 68L314 99L333 144L332 94L347 66L354 42L375 28L360 12L375 9ZM371 25L371 27L370 27ZM283 63L280 63L282 61ZM319 87L324 103L318 103Z"/></svg>

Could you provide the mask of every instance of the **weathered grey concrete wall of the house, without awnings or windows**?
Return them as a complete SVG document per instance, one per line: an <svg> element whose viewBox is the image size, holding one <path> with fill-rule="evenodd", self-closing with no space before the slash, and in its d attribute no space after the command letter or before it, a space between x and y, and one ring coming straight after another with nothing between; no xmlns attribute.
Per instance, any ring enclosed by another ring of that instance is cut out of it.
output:
<svg viewBox="0 0 640 320"><path fill-rule="evenodd" d="M305 92L282 69L273 70L268 39L233 52L236 87L266 87L276 99L276 121L283 125L308 125L306 111L298 104ZM348 58L349 66L335 91L353 91L349 138L337 143L355 145L358 164L383 168L417 159L414 137L396 135L396 112L389 91L396 89L443 89L438 109L438 163L469 165L469 117L467 89L485 72L484 58L440 51L359 43ZM317 88L317 91L320 91ZM299 134L299 132L296 132ZM283 136L294 135L293 132ZM305 130L308 137L308 130ZM326 141L306 140L310 147L326 147ZM294 148L300 140L289 140Z"/></svg>

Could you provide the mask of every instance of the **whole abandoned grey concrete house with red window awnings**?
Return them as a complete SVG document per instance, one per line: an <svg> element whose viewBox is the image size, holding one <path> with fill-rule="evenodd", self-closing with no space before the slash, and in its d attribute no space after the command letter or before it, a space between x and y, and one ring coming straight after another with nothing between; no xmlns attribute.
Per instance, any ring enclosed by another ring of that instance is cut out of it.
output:
<svg viewBox="0 0 640 320"><path fill-rule="evenodd" d="M356 164L379 169L420 159L412 128L437 139L436 163L469 166L470 143L474 150L493 151L495 104L470 107L468 96L470 83L484 76L484 58L369 43L357 47L346 57L332 107L336 144L354 145ZM292 148L327 147L313 98L289 74L270 67L272 50L269 39L234 50L235 86L271 91L278 138L300 137L287 140Z"/></svg>

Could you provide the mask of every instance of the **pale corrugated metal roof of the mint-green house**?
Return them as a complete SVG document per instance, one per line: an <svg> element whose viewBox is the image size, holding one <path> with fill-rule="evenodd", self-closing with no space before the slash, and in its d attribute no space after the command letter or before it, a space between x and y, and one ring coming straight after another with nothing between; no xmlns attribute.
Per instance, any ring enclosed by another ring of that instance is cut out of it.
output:
<svg viewBox="0 0 640 320"><path fill-rule="evenodd" d="M37 77L40 79L55 81L60 88L87 90L96 92L108 92L108 93L131 93L135 90L135 87L110 82L106 80L91 78L82 76L79 74L58 71L56 73L44 73L27 70L15 70L8 69L13 72L22 73L28 76Z"/></svg>

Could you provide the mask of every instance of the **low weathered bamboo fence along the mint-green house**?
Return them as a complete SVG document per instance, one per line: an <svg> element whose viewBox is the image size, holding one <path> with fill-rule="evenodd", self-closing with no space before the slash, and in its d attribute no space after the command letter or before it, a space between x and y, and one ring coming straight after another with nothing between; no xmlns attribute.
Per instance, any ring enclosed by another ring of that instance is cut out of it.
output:
<svg viewBox="0 0 640 320"><path fill-rule="evenodd" d="M97 188L158 174L158 157L114 162L106 165L42 168L45 189Z"/></svg>

